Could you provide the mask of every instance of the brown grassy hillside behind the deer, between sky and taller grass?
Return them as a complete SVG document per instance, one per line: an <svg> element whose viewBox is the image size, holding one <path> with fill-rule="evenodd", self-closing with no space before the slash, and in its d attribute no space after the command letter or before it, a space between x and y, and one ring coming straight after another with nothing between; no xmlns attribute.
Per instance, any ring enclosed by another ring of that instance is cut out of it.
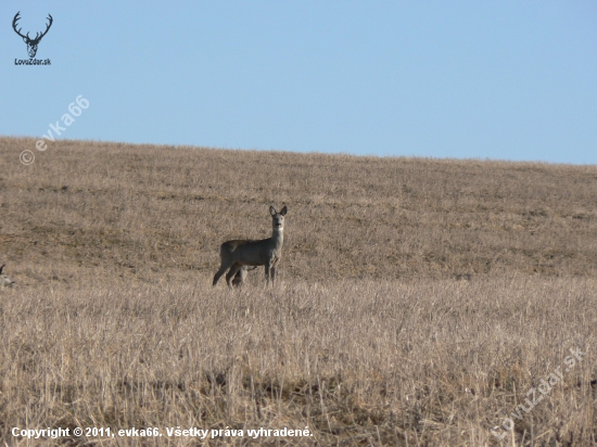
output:
<svg viewBox="0 0 597 447"><path fill-rule="evenodd" d="M223 241L269 237L270 204L287 280L596 274L596 166L14 138L0 161L0 261L27 284L208 281Z"/></svg>

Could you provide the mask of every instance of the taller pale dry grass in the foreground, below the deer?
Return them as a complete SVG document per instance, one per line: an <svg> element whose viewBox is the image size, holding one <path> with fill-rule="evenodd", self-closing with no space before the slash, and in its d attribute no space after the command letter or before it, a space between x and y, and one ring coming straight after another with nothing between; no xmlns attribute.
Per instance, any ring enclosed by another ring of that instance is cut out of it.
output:
<svg viewBox="0 0 597 447"><path fill-rule="evenodd" d="M15 290L0 295L2 439L16 444L13 426L150 426L164 436L176 426L308 426L309 438L253 442L498 445L491 429L579 347L586 355L535 408L518 409L505 440L593 445L596 286L517 277L300 280L234 293L123 280Z"/></svg>

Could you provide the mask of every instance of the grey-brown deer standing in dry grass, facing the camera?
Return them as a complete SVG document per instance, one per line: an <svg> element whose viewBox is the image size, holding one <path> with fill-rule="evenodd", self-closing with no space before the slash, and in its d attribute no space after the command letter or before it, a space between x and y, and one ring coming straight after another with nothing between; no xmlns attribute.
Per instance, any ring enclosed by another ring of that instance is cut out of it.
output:
<svg viewBox="0 0 597 447"><path fill-rule="evenodd" d="M227 241L219 247L220 266L219 270L214 276L212 285L216 285L220 277L228 270L226 282L228 288L232 285L240 286L246 276L246 266L265 266L265 278L267 284L270 280L274 283L276 279L276 266L282 256L282 244L284 242L284 216L287 207L284 206L280 213L269 207L271 215L271 238L262 239L258 241L238 239ZM241 270L243 270L241 272ZM237 274L240 273L238 277ZM232 278L237 284L233 283Z"/></svg>

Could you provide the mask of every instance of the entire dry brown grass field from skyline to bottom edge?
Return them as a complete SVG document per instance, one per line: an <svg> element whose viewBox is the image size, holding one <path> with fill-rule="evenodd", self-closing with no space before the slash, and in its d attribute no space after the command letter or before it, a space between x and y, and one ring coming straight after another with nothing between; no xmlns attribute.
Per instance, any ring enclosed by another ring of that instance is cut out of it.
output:
<svg viewBox="0 0 597 447"><path fill-rule="evenodd" d="M212 288L283 204L277 283ZM0 138L0 440L595 445L596 204L596 166ZM12 434L77 426L163 436Z"/></svg>

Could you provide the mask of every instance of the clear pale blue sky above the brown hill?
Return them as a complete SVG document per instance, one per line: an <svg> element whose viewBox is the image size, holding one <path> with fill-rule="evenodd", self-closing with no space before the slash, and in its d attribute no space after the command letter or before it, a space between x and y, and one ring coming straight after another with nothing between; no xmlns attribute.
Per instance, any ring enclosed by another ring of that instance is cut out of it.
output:
<svg viewBox="0 0 597 447"><path fill-rule="evenodd" d="M81 94L60 138L597 164L595 0L2 0L0 42L4 136Z"/></svg>

